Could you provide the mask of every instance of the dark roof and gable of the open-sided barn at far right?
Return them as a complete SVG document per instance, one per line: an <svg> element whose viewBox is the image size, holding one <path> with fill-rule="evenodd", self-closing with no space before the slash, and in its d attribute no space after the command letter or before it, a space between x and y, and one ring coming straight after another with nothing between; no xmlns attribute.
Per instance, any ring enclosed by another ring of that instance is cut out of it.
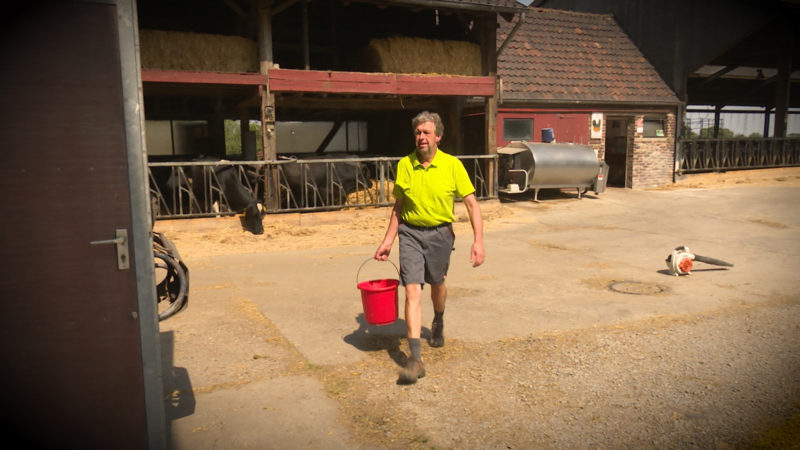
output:
<svg viewBox="0 0 800 450"><path fill-rule="evenodd" d="M536 0L534 5L613 15L687 104L771 108L788 91L788 107L800 108L797 0ZM773 77L781 68L783 80Z"/></svg>

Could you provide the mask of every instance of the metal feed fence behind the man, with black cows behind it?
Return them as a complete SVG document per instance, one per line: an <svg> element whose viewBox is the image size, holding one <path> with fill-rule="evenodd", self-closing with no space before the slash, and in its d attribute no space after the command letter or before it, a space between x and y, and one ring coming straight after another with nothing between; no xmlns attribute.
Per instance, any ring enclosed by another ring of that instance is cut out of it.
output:
<svg viewBox="0 0 800 450"><path fill-rule="evenodd" d="M478 199L496 198L497 156L458 156ZM232 198L247 195L264 204L266 174L278 180L279 205L267 213L328 211L389 206L399 157L287 158L277 161L148 163L156 219L213 217L236 211Z"/></svg>

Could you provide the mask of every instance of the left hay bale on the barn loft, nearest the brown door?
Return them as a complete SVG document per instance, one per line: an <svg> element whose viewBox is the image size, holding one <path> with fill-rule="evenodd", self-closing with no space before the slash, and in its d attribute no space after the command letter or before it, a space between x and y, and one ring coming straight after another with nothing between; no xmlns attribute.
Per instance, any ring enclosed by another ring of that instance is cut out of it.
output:
<svg viewBox="0 0 800 450"><path fill-rule="evenodd" d="M258 72L258 45L240 36L139 30L142 68Z"/></svg>

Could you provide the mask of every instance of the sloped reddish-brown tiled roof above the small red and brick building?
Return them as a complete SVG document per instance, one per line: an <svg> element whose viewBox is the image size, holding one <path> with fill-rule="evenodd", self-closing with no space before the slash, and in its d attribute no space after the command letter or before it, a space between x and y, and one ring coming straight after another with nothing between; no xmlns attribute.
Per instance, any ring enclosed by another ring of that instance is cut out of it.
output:
<svg viewBox="0 0 800 450"><path fill-rule="evenodd" d="M529 8L497 61L504 103L677 104L610 15ZM500 21L498 46L516 20Z"/></svg>

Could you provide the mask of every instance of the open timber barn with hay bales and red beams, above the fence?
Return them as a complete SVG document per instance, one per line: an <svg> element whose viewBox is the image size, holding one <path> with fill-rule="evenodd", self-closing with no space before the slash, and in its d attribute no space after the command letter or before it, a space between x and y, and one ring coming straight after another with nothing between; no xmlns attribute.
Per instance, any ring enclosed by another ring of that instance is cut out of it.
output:
<svg viewBox="0 0 800 450"><path fill-rule="evenodd" d="M141 0L151 161L402 156L413 145L410 119L425 109L445 121L442 147L463 154L463 105L476 98L487 112L481 153L492 153L497 24L524 8L516 0ZM267 203L280 195L272 178Z"/></svg>

